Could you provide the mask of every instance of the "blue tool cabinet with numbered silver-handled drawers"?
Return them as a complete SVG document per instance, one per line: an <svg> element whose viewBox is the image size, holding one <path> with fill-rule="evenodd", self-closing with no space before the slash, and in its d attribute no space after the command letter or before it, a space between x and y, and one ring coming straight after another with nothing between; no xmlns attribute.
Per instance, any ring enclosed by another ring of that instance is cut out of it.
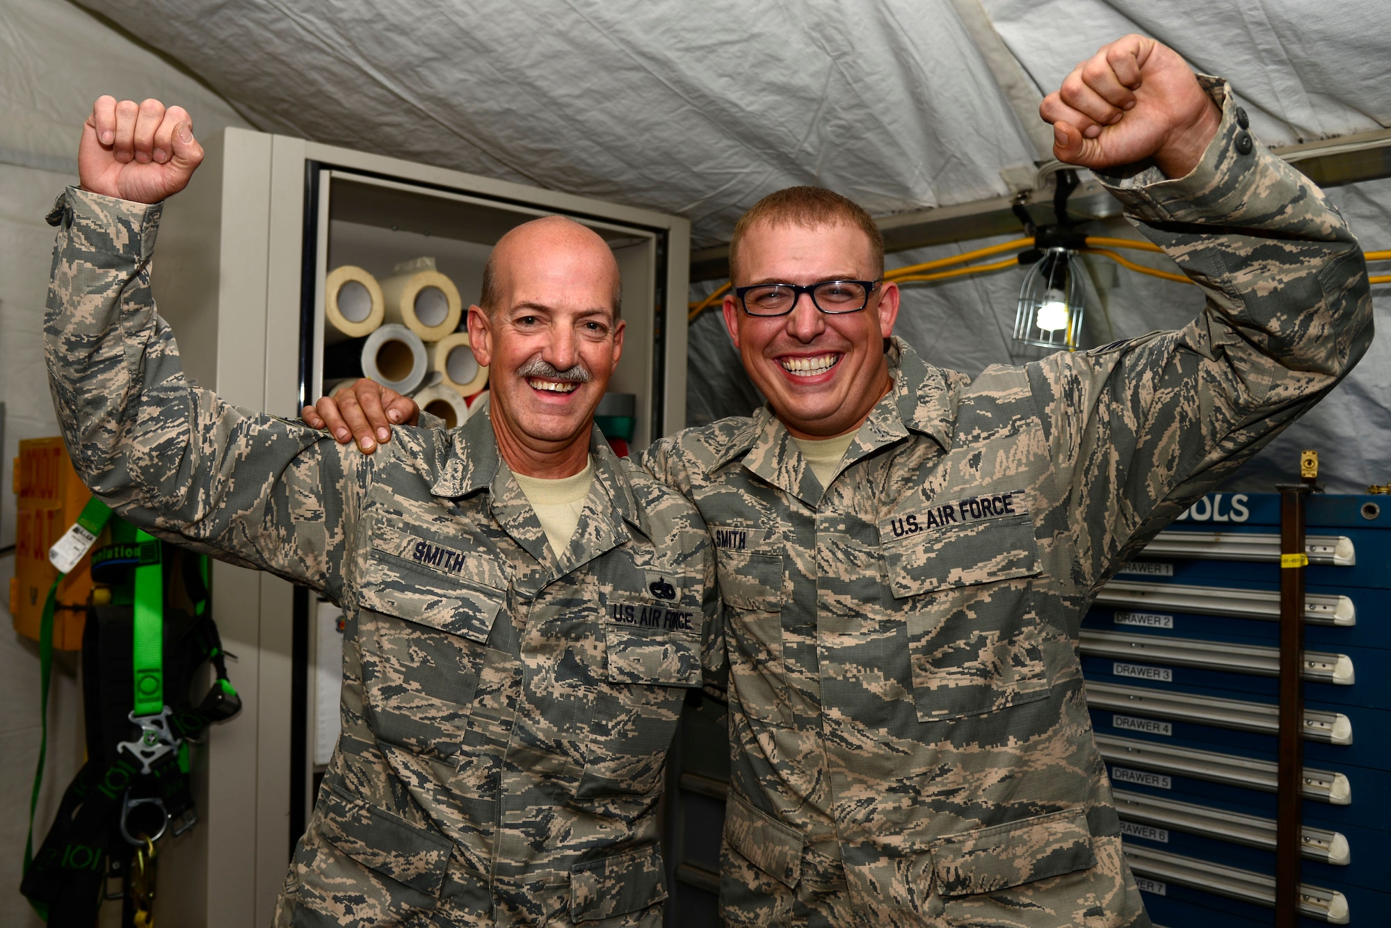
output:
<svg viewBox="0 0 1391 928"><path fill-rule="evenodd" d="M1387 506L1384 496L1308 499L1309 925L1384 924L1391 911ZM1159 924L1274 920L1259 900L1273 897L1274 874L1276 679L1266 674L1278 645L1278 531L1277 495L1209 495L1106 585L1082 622L1092 722Z"/></svg>

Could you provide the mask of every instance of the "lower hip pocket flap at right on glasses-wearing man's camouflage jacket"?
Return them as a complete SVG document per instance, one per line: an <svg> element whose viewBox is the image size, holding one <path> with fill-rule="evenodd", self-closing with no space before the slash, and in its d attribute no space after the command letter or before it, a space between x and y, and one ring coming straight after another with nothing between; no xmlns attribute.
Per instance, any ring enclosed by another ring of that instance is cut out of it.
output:
<svg viewBox="0 0 1391 928"><path fill-rule="evenodd" d="M932 849L932 871L943 896L996 892L1095 865L1084 809L953 835Z"/></svg>

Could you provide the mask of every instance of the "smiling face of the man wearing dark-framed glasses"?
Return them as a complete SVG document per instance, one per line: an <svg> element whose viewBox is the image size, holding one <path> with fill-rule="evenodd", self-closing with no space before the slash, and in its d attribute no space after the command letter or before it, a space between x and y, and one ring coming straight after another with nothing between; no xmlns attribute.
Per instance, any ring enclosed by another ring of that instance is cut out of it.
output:
<svg viewBox="0 0 1391 928"><path fill-rule="evenodd" d="M759 222L744 232L734 286L874 281L869 239L849 224ZM857 429L889 390L883 339L899 317L899 288L881 283L860 313L828 315L801 295L791 313L753 317L725 297L725 324L744 370L787 431L830 438Z"/></svg>

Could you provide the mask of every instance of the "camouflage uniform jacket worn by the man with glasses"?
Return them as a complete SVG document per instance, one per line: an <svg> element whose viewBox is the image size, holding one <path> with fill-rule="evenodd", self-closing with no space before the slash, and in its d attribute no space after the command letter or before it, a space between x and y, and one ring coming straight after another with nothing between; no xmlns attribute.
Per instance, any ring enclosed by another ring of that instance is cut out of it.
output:
<svg viewBox="0 0 1391 928"><path fill-rule="evenodd" d="M825 490L766 407L643 456L715 542L725 840L782 885L815 849L867 924L1148 924L1086 713L1082 614L1372 338L1342 218L1206 83L1224 119L1202 164L1111 179L1203 288L1187 328L974 382L894 340L893 388ZM739 915L727 863L723 895Z"/></svg>

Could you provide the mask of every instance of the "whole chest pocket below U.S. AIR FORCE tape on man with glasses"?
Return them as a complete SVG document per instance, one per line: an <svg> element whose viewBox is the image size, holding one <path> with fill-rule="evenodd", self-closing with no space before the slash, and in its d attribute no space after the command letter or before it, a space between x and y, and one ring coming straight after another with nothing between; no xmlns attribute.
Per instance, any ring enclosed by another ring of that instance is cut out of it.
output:
<svg viewBox="0 0 1391 928"><path fill-rule="evenodd" d="M1029 579L1040 567L1029 515L889 536L885 568L907 613L918 721L1043 699L1049 683Z"/></svg>

